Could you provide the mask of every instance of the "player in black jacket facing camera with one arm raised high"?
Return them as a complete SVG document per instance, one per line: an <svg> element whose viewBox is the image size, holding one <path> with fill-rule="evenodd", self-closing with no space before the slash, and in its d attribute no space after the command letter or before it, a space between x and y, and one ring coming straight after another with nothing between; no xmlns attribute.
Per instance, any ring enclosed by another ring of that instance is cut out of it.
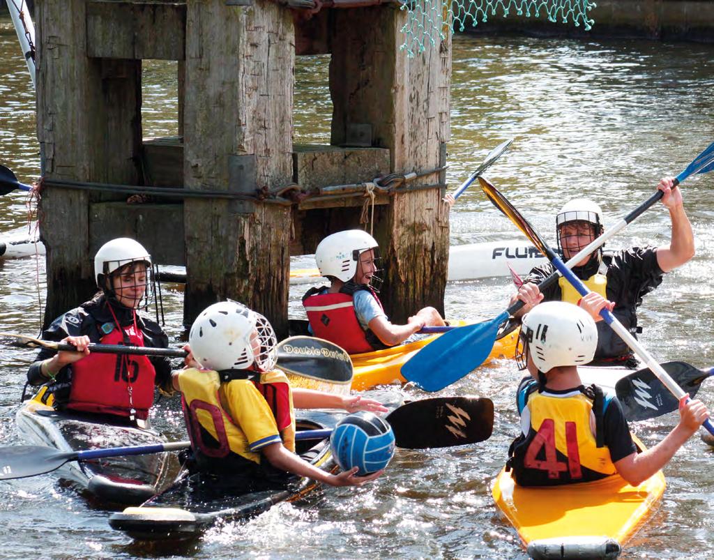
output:
<svg viewBox="0 0 714 560"><path fill-rule="evenodd" d="M613 314L633 336L641 332L637 308L643 296L660 285L663 274L685 264L694 256L694 234L684 211L680 187L673 187L673 179L667 178L662 179L657 188L663 191L662 204L670 214L670 244L616 251L607 264L603 262L603 251L600 248L573 268L575 276L591 291L615 302ZM600 206L587 199L569 201L555 218L558 249L566 261L602 233ZM536 284L553 274L554 270L550 263L531 270L531 274L511 298L512 304L516 299L526 304L516 316L526 314L541 301L576 303L580 299L578 292L562 277L558 284L540 293ZM598 349L593 363L637 366L629 346L605 323L598 323Z"/></svg>

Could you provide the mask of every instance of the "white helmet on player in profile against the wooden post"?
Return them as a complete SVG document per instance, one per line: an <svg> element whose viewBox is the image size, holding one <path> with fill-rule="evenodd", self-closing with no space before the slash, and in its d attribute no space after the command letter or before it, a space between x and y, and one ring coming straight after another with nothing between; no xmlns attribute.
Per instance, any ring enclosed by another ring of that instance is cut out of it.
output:
<svg viewBox="0 0 714 560"><path fill-rule="evenodd" d="M349 281L357 272L359 256L369 249L378 249L377 241L361 229L347 229L328 235L315 250L315 260L322 276L334 276Z"/></svg>

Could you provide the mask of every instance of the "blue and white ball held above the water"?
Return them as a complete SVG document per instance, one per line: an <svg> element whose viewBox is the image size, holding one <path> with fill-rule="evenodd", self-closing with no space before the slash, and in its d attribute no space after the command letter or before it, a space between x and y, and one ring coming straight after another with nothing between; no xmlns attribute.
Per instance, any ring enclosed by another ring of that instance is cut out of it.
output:
<svg viewBox="0 0 714 560"><path fill-rule="evenodd" d="M343 471L359 467L364 476L384 469L394 455L392 426L371 412L345 416L330 436L335 461Z"/></svg>

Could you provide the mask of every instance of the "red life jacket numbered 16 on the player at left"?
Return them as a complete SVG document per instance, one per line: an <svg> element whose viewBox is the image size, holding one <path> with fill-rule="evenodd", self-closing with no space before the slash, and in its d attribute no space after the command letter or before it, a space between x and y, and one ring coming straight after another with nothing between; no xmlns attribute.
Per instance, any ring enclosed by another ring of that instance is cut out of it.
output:
<svg viewBox="0 0 714 560"><path fill-rule="evenodd" d="M134 324L121 329L115 323L101 344L144 346L144 334ZM156 370L147 356L93 352L72 364L72 384L66 408L116 414L145 420L154 403Z"/></svg>

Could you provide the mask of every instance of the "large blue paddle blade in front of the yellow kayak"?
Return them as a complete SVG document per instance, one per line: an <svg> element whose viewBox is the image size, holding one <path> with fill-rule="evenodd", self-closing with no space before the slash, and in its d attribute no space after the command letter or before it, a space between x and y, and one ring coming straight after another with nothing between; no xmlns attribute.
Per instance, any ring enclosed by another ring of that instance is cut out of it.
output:
<svg viewBox="0 0 714 560"><path fill-rule="evenodd" d="M401 374L424 391L441 391L483 364L508 312L491 321L462 326L427 344L401 368Z"/></svg>

